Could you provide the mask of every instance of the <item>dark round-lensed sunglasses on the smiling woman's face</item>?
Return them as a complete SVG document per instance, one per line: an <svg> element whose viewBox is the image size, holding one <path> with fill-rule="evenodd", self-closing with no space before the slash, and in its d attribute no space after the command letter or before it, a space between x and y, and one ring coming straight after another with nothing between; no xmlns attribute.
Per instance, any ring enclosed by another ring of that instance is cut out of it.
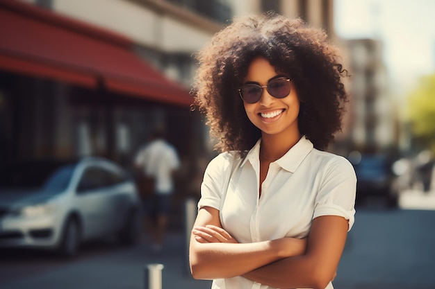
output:
<svg viewBox="0 0 435 289"><path fill-rule="evenodd" d="M277 78L268 83L268 85L256 85L248 83L238 89L240 97L246 103L256 103L263 95L263 88L274 98L285 98L290 94L290 78Z"/></svg>

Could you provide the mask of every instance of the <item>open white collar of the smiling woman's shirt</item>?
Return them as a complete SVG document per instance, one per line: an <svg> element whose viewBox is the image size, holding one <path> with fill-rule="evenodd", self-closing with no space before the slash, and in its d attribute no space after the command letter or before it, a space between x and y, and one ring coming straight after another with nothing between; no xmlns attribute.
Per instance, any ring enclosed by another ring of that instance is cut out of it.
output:
<svg viewBox="0 0 435 289"><path fill-rule="evenodd" d="M240 166L245 165L248 160L251 162L251 164L258 162L258 156L260 155L260 143L261 139L258 139L255 146L249 150ZM280 159L277 159L275 163L281 166L281 168L284 168L284 170L288 170L290 173L295 173L297 167L302 163L311 150L313 150L313 143L303 136L301 139L299 139L295 146L290 148L290 150L288 150L288 152L286 152L286 154Z"/></svg>

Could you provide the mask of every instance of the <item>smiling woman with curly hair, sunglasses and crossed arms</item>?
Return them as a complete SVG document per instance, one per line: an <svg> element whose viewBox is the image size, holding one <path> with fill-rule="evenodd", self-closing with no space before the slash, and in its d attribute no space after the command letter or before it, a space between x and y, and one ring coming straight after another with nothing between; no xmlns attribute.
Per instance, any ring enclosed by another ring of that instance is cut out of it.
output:
<svg viewBox="0 0 435 289"><path fill-rule="evenodd" d="M352 165L322 151L347 100L338 51L279 15L241 17L199 53L197 103L220 140L190 268L212 288L333 288L354 222Z"/></svg>

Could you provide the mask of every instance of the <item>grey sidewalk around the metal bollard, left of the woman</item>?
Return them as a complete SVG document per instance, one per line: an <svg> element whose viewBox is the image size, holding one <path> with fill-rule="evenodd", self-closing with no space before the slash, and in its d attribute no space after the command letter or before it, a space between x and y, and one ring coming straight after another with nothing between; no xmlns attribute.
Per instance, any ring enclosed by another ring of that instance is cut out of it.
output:
<svg viewBox="0 0 435 289"><path fill-rule="evenodd" d="M56 268L6 281L2 289L144 289L146 266L161 263L163 289L207 289L211 281L192 279L188 271L186 240L170 233L163 252L152 256L147 243L88 259L60 263Z"/></svg>

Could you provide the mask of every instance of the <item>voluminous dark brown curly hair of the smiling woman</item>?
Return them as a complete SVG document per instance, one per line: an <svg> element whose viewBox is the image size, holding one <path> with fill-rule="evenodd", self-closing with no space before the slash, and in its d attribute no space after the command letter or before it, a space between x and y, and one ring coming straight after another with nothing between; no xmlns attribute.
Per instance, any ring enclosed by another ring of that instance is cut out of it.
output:
<svg viewBox="0 0 435 289"><path fill-rule="evenodd" d="M292 79L301 101L299 131L325 150L341 129L347 71L326 33L274 13L235 19L197 54L195 103L206 114L215 149L243 156L261 137L238 95L249 64L258 57Z"/></svg>

